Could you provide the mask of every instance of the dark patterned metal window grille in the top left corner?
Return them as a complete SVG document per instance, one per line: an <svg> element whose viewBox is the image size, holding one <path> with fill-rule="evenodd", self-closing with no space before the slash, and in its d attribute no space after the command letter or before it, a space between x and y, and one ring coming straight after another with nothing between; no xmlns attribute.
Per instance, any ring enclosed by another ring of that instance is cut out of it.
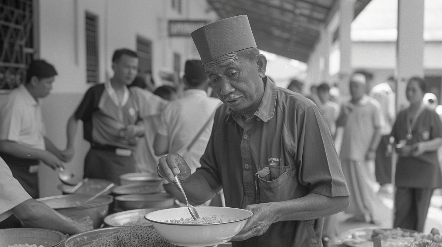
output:
<svg viewBox="0 0 442 247"><path fill-rule="evenodd" d="M26 79L34 56L32 0L0 2L0 90L13 89Z"/></svg>

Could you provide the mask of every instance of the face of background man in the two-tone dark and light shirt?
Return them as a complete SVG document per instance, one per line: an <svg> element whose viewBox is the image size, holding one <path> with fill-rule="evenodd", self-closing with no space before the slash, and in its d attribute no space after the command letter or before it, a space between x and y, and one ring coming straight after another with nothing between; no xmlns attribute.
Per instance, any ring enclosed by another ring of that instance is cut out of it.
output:
<svg viewBox="0 0 442 247"><path fill-rule="evenodd" d="M123 54L117 62L112 63L114 79L118 82L130 85L137 76L138 58Z"/></svg>

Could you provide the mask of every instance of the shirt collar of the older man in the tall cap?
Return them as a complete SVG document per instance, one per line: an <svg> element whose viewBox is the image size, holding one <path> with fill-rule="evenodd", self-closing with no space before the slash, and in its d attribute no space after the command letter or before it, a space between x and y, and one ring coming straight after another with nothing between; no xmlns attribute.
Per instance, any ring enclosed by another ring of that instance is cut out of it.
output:
<svg viewBox="0 0 442 247"><path fill-rule="evenodd" d="M264 122L268 122L272 119L275 112L278 89L273 84L271 79L269 79L267 76L263 78L263 83L264 94L261 99L261 103L259 104L258 110L255 112L254 115ZM229 116L227 117L226 123L233 123L234 120L238 121L239 119L236 116L233 116L233 112L231 111L229 113Z"/></svg>

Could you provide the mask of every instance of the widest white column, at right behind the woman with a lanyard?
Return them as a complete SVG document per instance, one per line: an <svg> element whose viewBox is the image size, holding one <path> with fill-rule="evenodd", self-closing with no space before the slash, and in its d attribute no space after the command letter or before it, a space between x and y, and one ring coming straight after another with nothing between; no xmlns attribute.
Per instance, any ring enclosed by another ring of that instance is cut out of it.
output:
<svg viewBox="0 0 442 247"><path fill-rule="evenodd" d="M408 106L407 81L423 77L424 0L398 0L396 41L396 110Z"/></svg>

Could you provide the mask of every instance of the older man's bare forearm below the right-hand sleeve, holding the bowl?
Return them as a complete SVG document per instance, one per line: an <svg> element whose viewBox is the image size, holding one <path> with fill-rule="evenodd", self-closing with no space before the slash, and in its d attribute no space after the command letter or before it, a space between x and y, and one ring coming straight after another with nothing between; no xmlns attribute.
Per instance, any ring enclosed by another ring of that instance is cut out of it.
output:
<svg viewBox="0 0 442 247"><path fill-rule="evenodd" d="M283 202L269 202L278 221L306 221L322 218L347 209L350 196L329 197L311 193Z"/></svg>

